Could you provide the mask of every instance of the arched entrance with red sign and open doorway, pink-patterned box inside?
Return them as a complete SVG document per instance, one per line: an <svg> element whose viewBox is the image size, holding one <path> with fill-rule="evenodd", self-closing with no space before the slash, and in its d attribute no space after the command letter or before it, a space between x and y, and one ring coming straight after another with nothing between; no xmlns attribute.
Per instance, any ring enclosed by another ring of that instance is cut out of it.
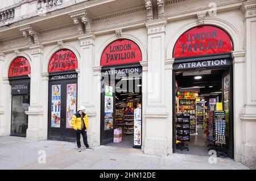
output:
<svg viewBox="0 0 256 181"><path fill-rule="evenodd" d="M110 43L101 56L101 145L142 145L142 52L129 39Z"/></svg>

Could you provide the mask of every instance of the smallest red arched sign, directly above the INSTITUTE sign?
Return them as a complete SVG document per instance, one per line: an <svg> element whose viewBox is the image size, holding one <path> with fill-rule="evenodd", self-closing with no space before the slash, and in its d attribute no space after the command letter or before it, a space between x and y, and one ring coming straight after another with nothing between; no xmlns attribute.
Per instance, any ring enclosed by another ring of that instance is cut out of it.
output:
<svg viewBox="0 0 256 181"><path fill-rule="evenodd" d="M28 75L31 73L30 62L28 62L27 58L18 57L13 62L11 62L9 68L9 77L17 77L21 75Z"/></svg>

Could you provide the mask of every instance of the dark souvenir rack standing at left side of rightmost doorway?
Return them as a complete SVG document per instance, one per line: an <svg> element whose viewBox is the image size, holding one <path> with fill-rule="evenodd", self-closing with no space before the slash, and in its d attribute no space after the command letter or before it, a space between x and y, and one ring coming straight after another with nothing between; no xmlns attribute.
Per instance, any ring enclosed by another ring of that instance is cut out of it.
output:
<svg viewBox="0 0 256 181"><path fill-rule="evenodd" d="M189 112L177 112L176 117L176 140L177 149L188 150L188 144L185 141L190 141L190 113Z"/></svg>

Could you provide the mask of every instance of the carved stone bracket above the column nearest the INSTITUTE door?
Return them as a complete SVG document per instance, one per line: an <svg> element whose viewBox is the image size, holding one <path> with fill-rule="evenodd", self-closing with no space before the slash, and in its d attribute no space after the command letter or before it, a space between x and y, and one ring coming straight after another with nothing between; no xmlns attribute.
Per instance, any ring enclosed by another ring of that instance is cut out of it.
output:
<svg viewBox="0 0 256 181"><path fill-rule="evenodd" d="M22 27L19 31L21 31L22 35L28 39L30 45L39 43L39 31L32 26Z"/></svg>

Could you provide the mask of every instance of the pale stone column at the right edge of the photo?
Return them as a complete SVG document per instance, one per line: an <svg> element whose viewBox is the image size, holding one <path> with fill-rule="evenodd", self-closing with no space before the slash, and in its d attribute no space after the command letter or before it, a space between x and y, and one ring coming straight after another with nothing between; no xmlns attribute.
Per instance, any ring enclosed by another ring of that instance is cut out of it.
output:
<svg viewBox="0 0 256 181"><path fill-rule="evenodd" d="M242 163L256 169L256 1L242 5L246 36L246 103L243 121ZM241 95L243 96L243 95Z"/></svg>

